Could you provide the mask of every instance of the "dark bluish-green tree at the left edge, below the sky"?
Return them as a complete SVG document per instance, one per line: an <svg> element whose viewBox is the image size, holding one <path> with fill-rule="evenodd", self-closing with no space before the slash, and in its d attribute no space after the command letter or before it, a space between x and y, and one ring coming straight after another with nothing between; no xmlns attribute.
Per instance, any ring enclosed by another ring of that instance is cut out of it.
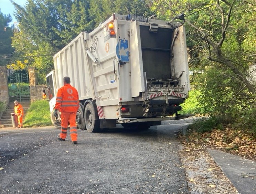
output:
<svg viewBox="0 0 256 194"><path fill-rule="evenodd" d="M11 21L11 15L4 15L0 9L0 66L8 64L10 54L14 51L11 46L12 27L8 26Z"/></svg>

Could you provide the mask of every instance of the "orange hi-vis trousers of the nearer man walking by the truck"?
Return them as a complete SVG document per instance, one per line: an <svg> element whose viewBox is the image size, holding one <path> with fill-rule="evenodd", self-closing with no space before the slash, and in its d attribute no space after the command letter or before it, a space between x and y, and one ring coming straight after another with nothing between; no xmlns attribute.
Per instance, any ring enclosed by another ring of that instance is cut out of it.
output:
<svg viewBox="0 0 256 194"><path fill-rule="evenodd" d="M76 112L61 112L61 133L60 138L66 139L68 122L70 124L71 141L77 141Z"/></svg>

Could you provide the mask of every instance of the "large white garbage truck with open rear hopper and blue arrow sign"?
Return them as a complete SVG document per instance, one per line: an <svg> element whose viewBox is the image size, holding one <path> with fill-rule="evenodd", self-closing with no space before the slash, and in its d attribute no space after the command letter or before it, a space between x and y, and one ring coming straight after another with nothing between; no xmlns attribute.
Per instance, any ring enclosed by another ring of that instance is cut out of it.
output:
<svg viewBox="0 0 256 194"><path fill-rule="evenodd" d="M181 22L113 14L92 32L81 32L55 54L47 76L52 123L63 78L79 93L76 122L99 132L122 124L148 129L178 114L190 90L185 28ZM61 113L60 113L61 114Z"/></svg>

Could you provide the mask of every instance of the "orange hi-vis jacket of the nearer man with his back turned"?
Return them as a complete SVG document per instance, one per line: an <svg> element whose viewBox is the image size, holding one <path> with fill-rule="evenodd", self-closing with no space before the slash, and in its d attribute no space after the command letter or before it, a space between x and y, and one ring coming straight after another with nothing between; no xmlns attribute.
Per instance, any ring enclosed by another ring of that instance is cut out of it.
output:
<svg viewBox="0 0 256 194"><path fill-rule="evenodd" d="M79 96L76 88L65 84L58 90L55 109L60 112L77 112L79 108Z"/></svg>

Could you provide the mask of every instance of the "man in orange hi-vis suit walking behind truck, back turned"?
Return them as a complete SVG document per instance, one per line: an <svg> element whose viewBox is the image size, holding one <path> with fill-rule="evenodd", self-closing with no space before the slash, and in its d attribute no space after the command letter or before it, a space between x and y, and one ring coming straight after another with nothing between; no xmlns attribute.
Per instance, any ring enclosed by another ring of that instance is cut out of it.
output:
<svg viewBox="0 0 256 194"><path fill-rule="evenodd" d="M61 132L58 140L65 141L67 137L68 122L70 136L73 144L77 144L76 113L79 108L79 96L76 88L70 85L70 78L63 78L64 86L58 90L54 116L61 112Z"/></svg>

